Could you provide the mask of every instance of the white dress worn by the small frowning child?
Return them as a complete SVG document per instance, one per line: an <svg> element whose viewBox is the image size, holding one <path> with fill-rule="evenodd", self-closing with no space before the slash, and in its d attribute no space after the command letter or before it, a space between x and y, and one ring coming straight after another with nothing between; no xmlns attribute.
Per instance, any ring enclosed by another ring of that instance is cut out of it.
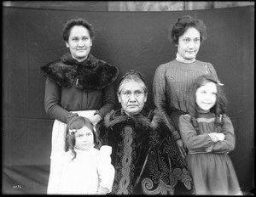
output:
<svg viewBox="0 0 256 197"><path fill-rule="evenodd" d="M52 158L59 163L59 169L55 170L55 177L58 178L55 178L48 194L96 194L100 187L111 192L114 178L111 147L75 151L75 159L71 151Z"/></svg>

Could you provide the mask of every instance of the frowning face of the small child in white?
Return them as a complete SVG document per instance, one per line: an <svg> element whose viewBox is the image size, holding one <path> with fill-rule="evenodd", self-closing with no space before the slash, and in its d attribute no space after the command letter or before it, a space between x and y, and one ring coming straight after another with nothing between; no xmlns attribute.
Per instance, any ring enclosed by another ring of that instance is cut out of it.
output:
<svg viewBox="0 0 256 197"><path fill-rule="evenodd" d="M75 132L76 137L76 149L90 149L94 146L93 131L88 127L82 127Z"/></svg>

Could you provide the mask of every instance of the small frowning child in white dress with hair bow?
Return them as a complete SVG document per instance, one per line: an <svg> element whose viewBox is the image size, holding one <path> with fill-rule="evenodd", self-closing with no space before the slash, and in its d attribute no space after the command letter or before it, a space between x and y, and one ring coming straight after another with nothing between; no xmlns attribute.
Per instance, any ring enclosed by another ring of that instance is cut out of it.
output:
<svg viewBox="0 0 256 197"><path fill-rule="evenodd" d="M114 168L110 146L94 148L96 133L91 122L78 118L66 137L67 152L56 155L60 167L49 194L108 194L112 190Z"/></svg>

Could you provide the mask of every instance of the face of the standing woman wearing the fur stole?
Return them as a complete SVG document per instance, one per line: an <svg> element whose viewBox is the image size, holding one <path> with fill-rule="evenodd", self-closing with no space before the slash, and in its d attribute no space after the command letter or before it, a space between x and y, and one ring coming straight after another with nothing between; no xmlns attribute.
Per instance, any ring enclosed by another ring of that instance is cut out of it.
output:
<svg viewBox="0 0 256 197"><path fill-rule="evenodd" d="M77 59L79 62L83 61L87 58L92 46L89 31L83 25L73 26L66 46L69 48L73 59Z"/></svg>

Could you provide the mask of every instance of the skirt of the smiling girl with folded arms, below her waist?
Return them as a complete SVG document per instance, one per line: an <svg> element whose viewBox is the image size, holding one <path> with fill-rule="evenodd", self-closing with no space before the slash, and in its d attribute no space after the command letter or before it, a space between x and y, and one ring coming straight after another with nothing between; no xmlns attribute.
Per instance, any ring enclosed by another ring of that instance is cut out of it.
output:
<svg viewBox="0 0 256 197"><path fill-rule="evenodd" d="M229 155L188 154L186 160L195 185L195 194L228 195L240 192Z"/></svg>

